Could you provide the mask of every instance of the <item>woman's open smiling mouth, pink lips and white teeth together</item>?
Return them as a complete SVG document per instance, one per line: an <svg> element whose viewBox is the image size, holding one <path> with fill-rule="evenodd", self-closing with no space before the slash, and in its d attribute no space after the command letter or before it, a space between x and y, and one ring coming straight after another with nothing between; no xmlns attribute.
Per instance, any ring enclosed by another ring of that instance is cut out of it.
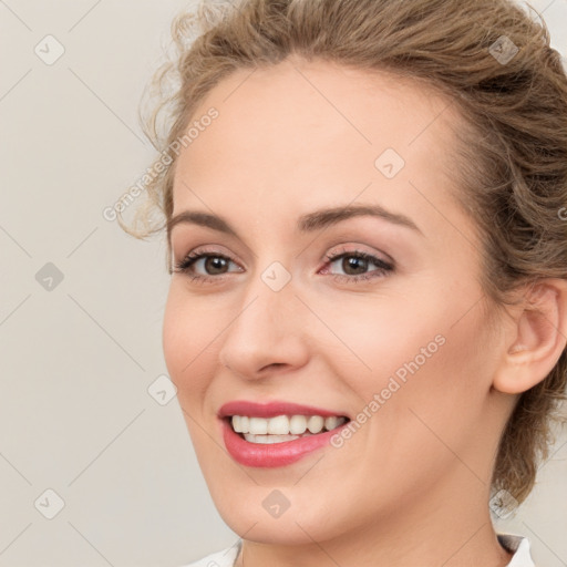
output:
<svg viewBox="0 0 567 567"><path fill-rule="evenodd" d="M230 456L240 464L285 466L329 445L350 421L341 413L286 402L229 402L218 416Z"/></svg>

